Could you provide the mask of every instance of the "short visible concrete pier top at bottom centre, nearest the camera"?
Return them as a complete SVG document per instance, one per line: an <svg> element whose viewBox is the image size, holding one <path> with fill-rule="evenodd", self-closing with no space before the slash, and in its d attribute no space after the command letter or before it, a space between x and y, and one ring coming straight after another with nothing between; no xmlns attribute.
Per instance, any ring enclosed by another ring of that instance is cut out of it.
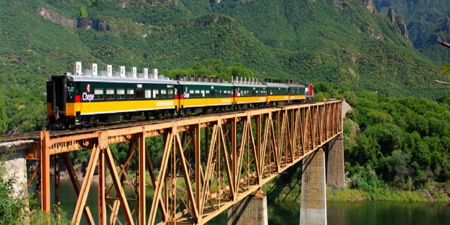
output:
<svg viewBox="0 0 450 225"><path fill-rule="evenodd" d="M267 225L267 196L247 196L228 209L228 225Z"/></svg>

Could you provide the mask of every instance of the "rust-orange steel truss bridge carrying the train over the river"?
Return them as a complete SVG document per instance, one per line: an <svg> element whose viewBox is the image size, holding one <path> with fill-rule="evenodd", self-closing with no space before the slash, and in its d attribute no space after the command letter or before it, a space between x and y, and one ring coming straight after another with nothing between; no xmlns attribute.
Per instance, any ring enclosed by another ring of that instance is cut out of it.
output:
<svg viewBox="0 0 450 225"><path fill-rule="evenodd" d="M77 195L74 224L82 217L88 224L204 224L245 196L260 192L264 183L339 134L341 100L190 116L61 137L42 131L40 142L27 149L27 159L39 160L28 185L37 177L41 209L50 211L50 179L55 179L57 203L63 163ZM150 157L145 138L159 135L163 146L157 161ZM118 142L129 142L125 161L117 161L109 147ZM92 151L80 183L68 152L83 149ZM133 157L135 180L128 176ZM148 176L151 182L145 183ZM98 219L94 220L86 199L96 177ZM131 194L125 194L125 186ZM147 195L151 205L146 204Z"/></svg>

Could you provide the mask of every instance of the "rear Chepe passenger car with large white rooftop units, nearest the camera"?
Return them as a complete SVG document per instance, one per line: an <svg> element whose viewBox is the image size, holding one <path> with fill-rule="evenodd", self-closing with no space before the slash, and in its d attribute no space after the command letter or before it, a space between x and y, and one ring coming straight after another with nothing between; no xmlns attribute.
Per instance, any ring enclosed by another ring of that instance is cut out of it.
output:
<svg viewBox="0 0 450 225"><path fill-rule="evenodd" d="M157 76L157 75L156 75ZM178 83L167 78L148 78L147 74L119 72L111 68L100 74L95 68L82 72L75 63L75 74L52 75L47 79L47 120L50 129L111 123L133 116L176 114Z"/></svg>

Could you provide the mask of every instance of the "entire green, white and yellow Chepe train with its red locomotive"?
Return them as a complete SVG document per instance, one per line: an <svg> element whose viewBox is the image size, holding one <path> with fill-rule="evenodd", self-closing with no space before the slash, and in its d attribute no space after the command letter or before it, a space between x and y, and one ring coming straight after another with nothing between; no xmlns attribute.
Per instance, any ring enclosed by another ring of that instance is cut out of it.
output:
<svg viewBox="0 0 450 225"><path fill-rule="evenodd" d="M48 129L74 129L135 119L189 115L239 110L243 108L282 106L311 102L312 83L293 80L177 75L171 79L157 69L142 73L125 66L118 71L107 64L98 71L97 64L83 69L74 63L74 74L51 75L46 81Z"/></svg>

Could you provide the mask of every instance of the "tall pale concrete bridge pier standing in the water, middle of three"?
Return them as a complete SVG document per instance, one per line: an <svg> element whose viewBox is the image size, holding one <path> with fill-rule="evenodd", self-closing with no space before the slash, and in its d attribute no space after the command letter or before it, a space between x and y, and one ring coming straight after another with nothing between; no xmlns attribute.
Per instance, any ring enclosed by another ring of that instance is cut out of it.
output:
<svg viewBox="0 0 450 225"><path fill-rule="evenodd" d="M300 225L326 225L325 153L321 148L303 158Z"/></svg>

